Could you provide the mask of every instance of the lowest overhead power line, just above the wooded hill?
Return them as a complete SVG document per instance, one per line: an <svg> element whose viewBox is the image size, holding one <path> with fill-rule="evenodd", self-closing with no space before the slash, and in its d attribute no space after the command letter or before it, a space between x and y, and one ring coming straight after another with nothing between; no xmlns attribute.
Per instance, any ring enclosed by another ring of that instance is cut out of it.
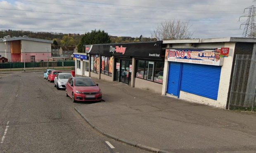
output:
<svg viewBox="0 0 256 153"><path fill-rule="evenodd" d="M75 30L75 29L47 29L47 28L16 28L16 27L0 27L0 28L13 28L13 29L33 29L33 30L70 30L70 31L91 31L91 30ZM240 30L240 29L224 29L224 30L190 30L191 32L207 32L207 31L226 31L226 30ZM106 32L115 33L152 33L153 30L104 30Z"/></svg>

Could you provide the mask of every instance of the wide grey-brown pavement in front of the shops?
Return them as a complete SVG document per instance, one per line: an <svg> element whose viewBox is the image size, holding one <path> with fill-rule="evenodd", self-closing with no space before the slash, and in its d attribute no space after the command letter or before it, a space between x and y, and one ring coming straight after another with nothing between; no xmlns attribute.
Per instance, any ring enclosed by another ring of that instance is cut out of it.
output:
<svg viewBox="0 0 256 153"><path fill-rule="evenodd" d="M155 152L256 152L256 113L191 103L116 81L95 82L104 102L75 109L112 139Z"/></svg>

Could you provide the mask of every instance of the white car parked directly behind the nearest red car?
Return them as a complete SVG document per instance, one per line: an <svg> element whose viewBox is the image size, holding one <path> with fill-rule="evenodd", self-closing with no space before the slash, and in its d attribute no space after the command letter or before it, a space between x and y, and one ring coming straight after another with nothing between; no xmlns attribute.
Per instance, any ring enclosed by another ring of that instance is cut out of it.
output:
<svg viewBox="0 0 256 153"><path fill-rule="evenodd" d="M59 73L54 78L54 87L58 90L60 88L66 88L66 82L72 77L70 73Z"/></svg>

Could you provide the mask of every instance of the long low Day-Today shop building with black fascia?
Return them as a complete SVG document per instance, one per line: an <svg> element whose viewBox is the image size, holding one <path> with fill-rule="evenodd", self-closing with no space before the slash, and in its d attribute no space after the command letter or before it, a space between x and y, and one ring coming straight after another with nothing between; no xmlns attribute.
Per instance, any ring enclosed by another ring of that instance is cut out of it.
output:
<svg viewBox="0 0 256 153"><path fill-rule="evenodd" d="M76 74L161 93L164 72L162 41L86 45L74 53Z"/></svg>

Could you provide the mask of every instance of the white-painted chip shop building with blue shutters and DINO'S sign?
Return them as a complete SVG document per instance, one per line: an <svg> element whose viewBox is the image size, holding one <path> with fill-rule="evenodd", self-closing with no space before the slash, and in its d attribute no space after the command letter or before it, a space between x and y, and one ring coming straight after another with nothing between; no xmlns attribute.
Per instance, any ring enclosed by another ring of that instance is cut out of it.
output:
<svg viewBox="0 0 256 153"><path fill-rule="evenodd" d="M234 72L235 57L252 55L255 43L256 39L237 37L164 41L162 95L228 108L232 77L243 73ZM246 79L238 81L248 88Z"/></svg>

